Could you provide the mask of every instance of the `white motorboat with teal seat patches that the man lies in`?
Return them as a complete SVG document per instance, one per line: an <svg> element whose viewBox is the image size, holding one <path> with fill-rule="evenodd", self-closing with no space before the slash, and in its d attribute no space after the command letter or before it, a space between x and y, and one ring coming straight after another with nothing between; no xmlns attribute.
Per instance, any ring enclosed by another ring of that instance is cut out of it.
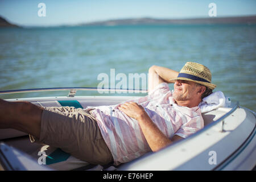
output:
<svg viewBox="0 0 256 182"><path fill-rule="evenodd" d="M94 88L96 90L97 88ZM76 96L77 90L50 88L7 90L0 94L69 90L63 97L16 98L40 106L114 105L138 96ZM146 92L146 90L140 90ZM0 129L0 168L3 170L252 170L256 164L256 119L254 111L240 107L218 107L203 114L204 129L158 152L149 152L119 166L92 166L58 148L31 143L28 134Z"/></svg>

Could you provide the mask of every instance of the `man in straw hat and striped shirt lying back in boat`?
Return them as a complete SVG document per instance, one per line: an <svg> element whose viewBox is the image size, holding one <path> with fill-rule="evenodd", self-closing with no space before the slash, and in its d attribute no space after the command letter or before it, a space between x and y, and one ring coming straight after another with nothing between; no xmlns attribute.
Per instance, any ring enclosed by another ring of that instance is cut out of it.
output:
<svg viewBox="0 0 256 182"><path fill-rule="evenodd" d="M148 76L147 96L112 106L76 109L0 100L0 128L23 131L91 164L118 165L204 127L199 104L216 87L207 67L188 62L176 72L153 65ZM174 92L168 83L174 83Z"/></svg>

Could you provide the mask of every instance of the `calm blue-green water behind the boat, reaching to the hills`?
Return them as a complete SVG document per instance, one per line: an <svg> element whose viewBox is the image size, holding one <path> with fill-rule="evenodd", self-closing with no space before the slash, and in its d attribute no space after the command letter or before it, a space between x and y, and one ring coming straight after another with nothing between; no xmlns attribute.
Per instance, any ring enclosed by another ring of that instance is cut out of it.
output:
<svg viewBox="0 0 256 182"><path fill-rule="evenodd" d="M0 90L97 87L97 76L110 68L128 76L153 64L179 71L197 61L212 71L216 91L256 111L255 48L256 26L2 28ZM60 94L66 95L0 98Z"/></svg>

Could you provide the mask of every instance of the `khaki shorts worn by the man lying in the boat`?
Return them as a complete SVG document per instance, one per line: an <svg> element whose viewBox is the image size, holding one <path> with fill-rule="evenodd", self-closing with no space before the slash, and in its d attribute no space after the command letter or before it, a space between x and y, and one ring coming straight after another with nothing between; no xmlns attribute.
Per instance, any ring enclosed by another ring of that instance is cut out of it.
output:
<svg viewBox="0 0 256 182"><path fill-rule="evenodd" d="M97 121L89 110L68 106L44 107L39 142L59 147L91 164L113 162Z"/></svg>

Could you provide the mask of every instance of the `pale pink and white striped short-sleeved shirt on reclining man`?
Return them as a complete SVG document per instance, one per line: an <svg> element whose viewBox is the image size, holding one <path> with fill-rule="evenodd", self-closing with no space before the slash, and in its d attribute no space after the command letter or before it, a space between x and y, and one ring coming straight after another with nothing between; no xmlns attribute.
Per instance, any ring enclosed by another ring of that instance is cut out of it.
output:
<svg viewBox="0 0 256 182"><path fill-rule="evenodd" d="M155 125L170 139L174 135L186 138L204 127L199 107L175 104L166 82L160 83L147 96L130 101L143 106ZM119 110L119 105L97 106L91 111L112 152L115 165L151 151L138 122Z"/></svg>

